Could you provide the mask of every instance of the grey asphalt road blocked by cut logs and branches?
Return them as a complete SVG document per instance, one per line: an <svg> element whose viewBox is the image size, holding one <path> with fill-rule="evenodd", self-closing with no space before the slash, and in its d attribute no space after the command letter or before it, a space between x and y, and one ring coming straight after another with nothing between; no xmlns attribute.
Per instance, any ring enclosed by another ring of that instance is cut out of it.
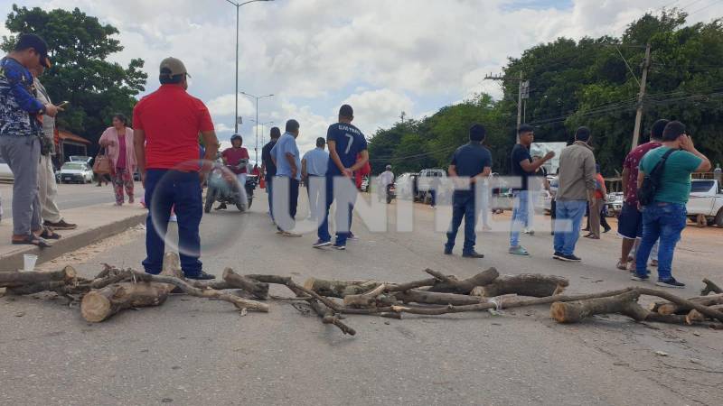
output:
<svg viewBox="0 0 723 406"><path fill-rule="evenodd" d="M486 257L468 260L441 254L437 213L417 205L413 233L370 233L356 220L360 239L345 252L315 250L315 235L274 233L264 198L248 214L203 217L207 272L231 266L299 282L412 281L427 267L465 277L495 266L565 276L575 293L636 283L615 270L619 240L612 233L581 239L583 263L552 260L550 235L542 232L522 238L531 257L507 254L505 233L481 234ZM87 277L104 262L138 267L143 235L130 230L47 266L74 263ZM689 287L676 293L695 296L703 277L723 279L721 236L717 228L686 231L674 269ZM289 293L273 287L272 294ZM616 316L566 326L541 306L499 316L350 317L358 334L349 337L283 302L271 302L268 314L240 317L227 303L180 296L101 324L84 322L77 306L64 303L52 295L0 299L0 404L681 405L723 397L723 333L706 328Z"/></svg>

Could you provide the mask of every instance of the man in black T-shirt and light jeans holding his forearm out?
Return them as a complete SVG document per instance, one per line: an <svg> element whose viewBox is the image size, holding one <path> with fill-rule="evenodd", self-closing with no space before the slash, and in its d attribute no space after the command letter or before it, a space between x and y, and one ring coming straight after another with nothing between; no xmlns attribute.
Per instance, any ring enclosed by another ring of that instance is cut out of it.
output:
<svg viewBox="0 0 723 406"><path fill-rule="evenodd" d="M517 130L520 142L512 148L510 161L512 162L512 176L521 180L521 188L515 188L514 208L512 209L512 229L510 231L510 254L529 255L526 249L520 245L520 230L527 226L530 216L530 185L528 178L534 176L535 172L545 162L555 156L555 152L548 152L545 156L532 161L530 156L530 145L535 140L534 129L531 125L521 125Z"/></svg>

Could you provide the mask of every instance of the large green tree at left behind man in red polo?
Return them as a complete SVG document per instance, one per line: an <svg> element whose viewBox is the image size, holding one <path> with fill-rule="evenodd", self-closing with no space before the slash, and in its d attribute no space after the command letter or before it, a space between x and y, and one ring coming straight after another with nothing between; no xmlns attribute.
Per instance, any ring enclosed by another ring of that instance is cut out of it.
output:
<svg viewBox="0 0 723 406"><path fill-rule="evenodd" d="M110 55L123 50L113 38L118 33L115 27L78 8L45 11L17 5L7 15L5 27L14 34L3 37L5 51L12 50L20 33L33 32L48 42L52 68L46 70L42 83L55 103L70 102L58 116L60 128L95 145L113 114L130 117L147 75L141 70L141 59L131 60L127 68L108 61Z"/></svg>

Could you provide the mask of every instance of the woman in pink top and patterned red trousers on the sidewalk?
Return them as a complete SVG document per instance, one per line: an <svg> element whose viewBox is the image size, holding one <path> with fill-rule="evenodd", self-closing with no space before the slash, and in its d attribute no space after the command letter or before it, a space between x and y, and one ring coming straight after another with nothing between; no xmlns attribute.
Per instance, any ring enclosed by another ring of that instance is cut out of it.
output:
<svg viewBox="0 0 723 406"><path fill-rule="evenodd" d="M125 115L113 115L113 126L108 127L100 136L99 144L106 149L110 158L110 177L116 192L116 205L125 202L123 189L126 189L128 203L133 203L133 174L136 172L136 150L133 145L133 128L127 126Z"/></svg>

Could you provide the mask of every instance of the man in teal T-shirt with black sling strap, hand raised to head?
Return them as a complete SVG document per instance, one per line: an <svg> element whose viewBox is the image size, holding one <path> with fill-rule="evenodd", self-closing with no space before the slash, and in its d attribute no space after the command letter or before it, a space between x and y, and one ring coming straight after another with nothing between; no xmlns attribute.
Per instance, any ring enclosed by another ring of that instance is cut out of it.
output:
<svg viewBox="0 0 723 406"><path fill-rule="evenodd" d="M662 132L662 146L643 156L638 172L638 188L643 184L645 173L653 171L663 154L673 150L662 168L662 176L655 191L653 203L643 207L643 241L635 257L634 281L649 279L646 264L655 240L660 238L658 252L658 281L656 285L666 288L684 288L671 274L672 254L685 228L685 204L690 196L690 174L710 169L710 161L698 152L693 141L685 134L685 125L671 121Z"/></svg>

